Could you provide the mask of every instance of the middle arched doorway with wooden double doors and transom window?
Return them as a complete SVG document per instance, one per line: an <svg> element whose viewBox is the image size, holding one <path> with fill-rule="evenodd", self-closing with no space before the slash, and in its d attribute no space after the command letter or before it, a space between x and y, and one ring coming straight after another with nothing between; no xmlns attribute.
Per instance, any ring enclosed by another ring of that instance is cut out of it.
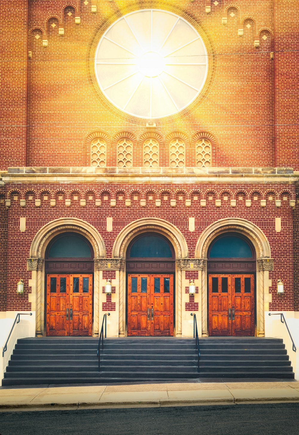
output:
<svg viewBox="0 0 299 435"><path fill-rule="evenodd" d="M139 234L126 252L129 336L173 336L175 251L158 233Z"/></svg>

